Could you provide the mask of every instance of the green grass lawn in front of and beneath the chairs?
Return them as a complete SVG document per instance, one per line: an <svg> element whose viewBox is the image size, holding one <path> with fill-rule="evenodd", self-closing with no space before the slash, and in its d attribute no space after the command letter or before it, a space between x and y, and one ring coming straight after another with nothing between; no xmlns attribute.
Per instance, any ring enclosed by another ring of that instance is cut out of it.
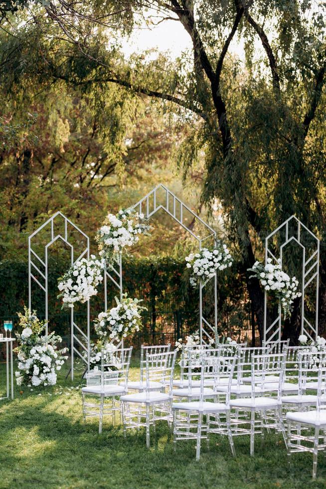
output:
<svg viewBox="0 0 326 489"><path fill-rule="evenodd" d="M165 423L151 431L146 449L144 430L129 431L98 420L82 423L80 371L71 384L60 371L58 385L48 389L15 387L13 401L0 401L0 488L325 488L326 460L320 454L319 478L311 479L312 456L287 454L279 435L256 438L249 456L249 438L235 439L232 458L226 438L211 437L195 461L193 441L181 441L173 451ZM4 365L0 365L0 388ZM131 377L137 378L134 365ZM74 388L72 388L74 387ZM77 387L77 388L76 388Z"/></svg>

